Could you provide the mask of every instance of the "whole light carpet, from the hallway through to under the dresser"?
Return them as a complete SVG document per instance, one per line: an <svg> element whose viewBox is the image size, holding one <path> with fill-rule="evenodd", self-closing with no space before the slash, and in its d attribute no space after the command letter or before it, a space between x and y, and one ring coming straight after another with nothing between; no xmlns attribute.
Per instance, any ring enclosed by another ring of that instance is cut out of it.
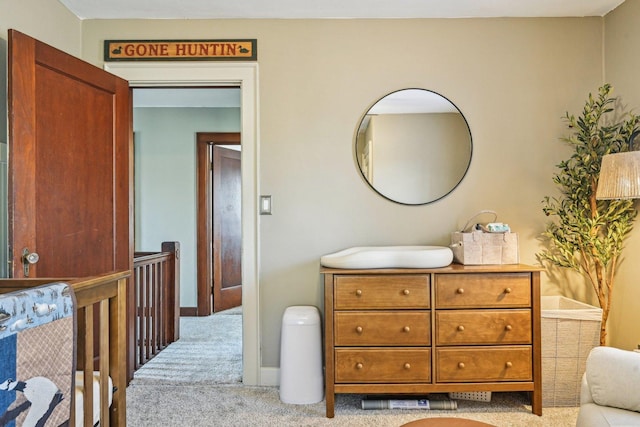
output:
<svg viewBox="0 0 640 427"><path fill-rule="evenodd" d="M544 408L531 414L523 393L493 393L490 403L458 400L454 411L362 410L360 395L336 396L335 418L324 401L290 405L277 387L241 382L239 310L181 319L181 338L135 374L127 388L127 425L397 427L428 417L460 417L499 427L575 426L578 408ZM230 339L228 335L237 337ZM446 398L444 395L431 398Z"/></svg>

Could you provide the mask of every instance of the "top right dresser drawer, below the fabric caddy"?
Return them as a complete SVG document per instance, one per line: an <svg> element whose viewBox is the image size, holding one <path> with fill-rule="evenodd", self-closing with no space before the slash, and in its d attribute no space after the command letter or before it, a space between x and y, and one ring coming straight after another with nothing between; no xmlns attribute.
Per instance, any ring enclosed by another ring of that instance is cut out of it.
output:
<svg viewBox="0 0 640 427"><path fill-rule="evenodd" d="M436 308L529 307L528 273L438 274Z"/></svg>

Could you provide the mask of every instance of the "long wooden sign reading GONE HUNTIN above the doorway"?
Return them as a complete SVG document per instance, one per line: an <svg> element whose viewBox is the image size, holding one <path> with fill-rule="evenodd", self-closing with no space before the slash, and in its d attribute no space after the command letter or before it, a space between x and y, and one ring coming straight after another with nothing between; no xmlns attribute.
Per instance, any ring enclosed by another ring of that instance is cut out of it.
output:
<svg viewBox="0 0 640 427"><path fill-rule="evenodd" d="M257 40L105 40L105 61L256 61Z"/></svg>

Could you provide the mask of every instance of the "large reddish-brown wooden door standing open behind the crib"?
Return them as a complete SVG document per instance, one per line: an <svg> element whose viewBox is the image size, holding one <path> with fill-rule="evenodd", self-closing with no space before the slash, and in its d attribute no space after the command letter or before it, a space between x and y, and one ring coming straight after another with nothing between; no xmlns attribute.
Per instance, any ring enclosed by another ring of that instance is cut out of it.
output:
<svg viewBox="0 0 640 427"><path fill-rule="evenodd" d="M128 82L15 30L8 82L13 277L131 269Z"/></svg>

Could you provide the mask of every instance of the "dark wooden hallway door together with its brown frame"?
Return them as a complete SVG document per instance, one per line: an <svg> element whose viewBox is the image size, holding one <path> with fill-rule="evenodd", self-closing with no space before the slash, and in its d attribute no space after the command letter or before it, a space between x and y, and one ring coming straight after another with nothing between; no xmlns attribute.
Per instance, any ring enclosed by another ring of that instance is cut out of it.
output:
<svg viewBox="0 0 640 427"><path fill-rule="evenodd" d="M242 304L240 152L214 156L216 145L240 145L240 133L197 134L198 316Z"/></svg>

